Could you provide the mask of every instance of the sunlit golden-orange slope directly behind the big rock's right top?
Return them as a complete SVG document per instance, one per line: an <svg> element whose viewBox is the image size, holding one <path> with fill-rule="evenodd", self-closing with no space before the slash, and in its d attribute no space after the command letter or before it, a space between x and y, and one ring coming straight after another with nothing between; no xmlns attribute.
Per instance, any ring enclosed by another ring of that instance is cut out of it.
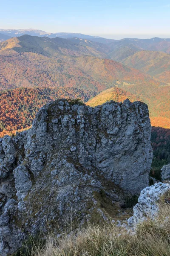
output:
<svg viewBox="0 0 170 256"><path fill-rule="evenodd" d="M130 101L140 100L147 103L152 126L170 128L170 86L150 87L127 86L119 84L120 88L111 88L90 99L86 104L92 107L109 100Z"/></svg>

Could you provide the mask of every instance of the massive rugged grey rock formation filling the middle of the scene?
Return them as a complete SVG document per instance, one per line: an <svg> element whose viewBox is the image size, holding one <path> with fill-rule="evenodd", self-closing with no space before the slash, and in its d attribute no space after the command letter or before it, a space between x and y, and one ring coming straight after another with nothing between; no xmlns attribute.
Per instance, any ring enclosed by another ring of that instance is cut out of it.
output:
<svg viewBox="0 0 170 256"><path fill-rule="evenodd" d="M37 113L32 128L0 139L0 255L27 233L57 232L103 218L123 193L148 185L152 148L147 105L126 100L91 108L60 99Z"/></svg>

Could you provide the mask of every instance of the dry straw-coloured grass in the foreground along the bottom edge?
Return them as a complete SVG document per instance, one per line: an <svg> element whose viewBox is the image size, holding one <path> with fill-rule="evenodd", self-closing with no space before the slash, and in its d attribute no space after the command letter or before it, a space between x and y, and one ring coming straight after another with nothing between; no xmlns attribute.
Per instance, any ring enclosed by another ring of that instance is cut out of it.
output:
<svg viewBox="0 0 170 256"><path fill-rule="evenodd" d="M105 223L89 225L60 238L51 235L45 245L33 246L29 256L170 256L170 204L160 204L155 221L138 225L136 233Z"/></svg>

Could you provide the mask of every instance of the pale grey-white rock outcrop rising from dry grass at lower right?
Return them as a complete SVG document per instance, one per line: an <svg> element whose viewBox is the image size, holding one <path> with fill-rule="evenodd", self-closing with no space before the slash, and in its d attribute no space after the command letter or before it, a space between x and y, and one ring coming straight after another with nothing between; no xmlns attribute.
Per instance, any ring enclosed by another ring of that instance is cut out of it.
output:
<svg viewBox="0 0 170 256"><path fill-rule="evenodd" d="M133 216L128 219L128 225L135 227L136 224L147 220L147 218L154 220L159 209L156 202L159 201L159 198L164 195L167 190L170 190L170 184L161 182L143 189L138 198L138 203L133 207Z"/></svg>

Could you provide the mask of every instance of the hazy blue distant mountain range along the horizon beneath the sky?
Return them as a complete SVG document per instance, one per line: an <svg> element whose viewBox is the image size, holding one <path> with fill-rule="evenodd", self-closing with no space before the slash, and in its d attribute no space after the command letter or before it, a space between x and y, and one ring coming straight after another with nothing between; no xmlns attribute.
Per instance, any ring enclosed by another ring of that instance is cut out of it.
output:
<svg viewBox="0 0 170 256"><path fill-rule="evenodd" d="M116 61L121 61L123 58L141 50L162 51L170 53L170 38L151 38L151 39L138 39L138 38L124 38L121 40L106 39L99 36L84 35L80 33L48 33L39 29L0 29L1 41L8 38L19 37L22 35L31 35L48 38L77 38L87 39L97 43L102 43L108 46L111 53L111 58ZM8 38L6 38L6 36ZM115 54L116 52L116 54ZM117 54L119 53L119 54Z"/></svg>

